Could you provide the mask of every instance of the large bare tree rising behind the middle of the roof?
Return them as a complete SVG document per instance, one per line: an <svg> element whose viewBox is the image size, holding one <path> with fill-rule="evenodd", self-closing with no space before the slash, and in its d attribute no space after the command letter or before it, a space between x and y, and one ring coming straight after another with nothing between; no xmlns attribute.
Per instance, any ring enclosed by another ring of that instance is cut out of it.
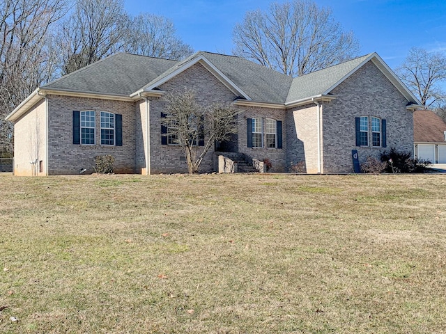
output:
<svg viewBox="0 0 446 334"><path fill-rule="evenodd" d="M353 33L342 30L330 8L306 0L247 12L233 29L233 43L233 54L292 76L346 61L359 51Z"/></svg>

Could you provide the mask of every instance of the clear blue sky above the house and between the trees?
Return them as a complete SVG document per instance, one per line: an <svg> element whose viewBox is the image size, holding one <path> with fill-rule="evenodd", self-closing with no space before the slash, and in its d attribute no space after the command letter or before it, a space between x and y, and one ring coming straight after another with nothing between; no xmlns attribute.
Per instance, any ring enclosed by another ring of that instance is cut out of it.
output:
<svg viewBox="0 0 446 334"><path fill-rule="evenodd" d="M266 9L269 0L125 0L134 15L149 12L171 19L178 35L195 51L231 54L233 26L247 10ZM282 2L282 1L278 1ZM446 52L445 0L316 0L330 6L344 30L360 41L360 54L376 51L394 68L410 47Z"/></svg>

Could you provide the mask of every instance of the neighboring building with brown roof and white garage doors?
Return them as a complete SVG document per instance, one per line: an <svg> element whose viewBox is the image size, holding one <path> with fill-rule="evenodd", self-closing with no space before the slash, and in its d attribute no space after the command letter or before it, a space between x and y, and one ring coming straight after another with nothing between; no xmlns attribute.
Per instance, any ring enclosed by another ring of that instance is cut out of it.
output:
<svg viewBox="0 0 446 334"><path fill-rule="evenodd" d="M417 159L446 164L446 123L430 110L413 113L413 141Z"/></svg>

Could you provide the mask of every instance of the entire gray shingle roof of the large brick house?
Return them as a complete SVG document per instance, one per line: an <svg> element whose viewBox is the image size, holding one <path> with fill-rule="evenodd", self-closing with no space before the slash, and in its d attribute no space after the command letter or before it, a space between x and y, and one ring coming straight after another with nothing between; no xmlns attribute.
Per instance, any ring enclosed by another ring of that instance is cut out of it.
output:
<svg viewBox="0 0 446 334"><path fill-rule="evenodd" d="M115 54L52 81L43 88L130 95L156 84L187 62L205 57L254 102L284 104L323 94L370 54L292 78L244 58L199 51L183 61Z"/></svg>

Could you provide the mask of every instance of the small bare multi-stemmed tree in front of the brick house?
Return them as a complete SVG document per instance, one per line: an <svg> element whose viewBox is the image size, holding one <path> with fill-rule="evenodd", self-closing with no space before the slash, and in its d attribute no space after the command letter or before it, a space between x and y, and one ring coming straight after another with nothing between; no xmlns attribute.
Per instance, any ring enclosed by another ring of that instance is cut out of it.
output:
<svg viewBox="0 0 446 334"><path fill-rule="evenodd" d="M184 93L169 93L164 100L167 102L162 118L162 125L167 128L164 136L183 148L187 170L190 174L197 173L215 141L225 141L237 132L236 116L240 111L229 104L202 107L197 103L196 93L187 89Z"/></svg>

